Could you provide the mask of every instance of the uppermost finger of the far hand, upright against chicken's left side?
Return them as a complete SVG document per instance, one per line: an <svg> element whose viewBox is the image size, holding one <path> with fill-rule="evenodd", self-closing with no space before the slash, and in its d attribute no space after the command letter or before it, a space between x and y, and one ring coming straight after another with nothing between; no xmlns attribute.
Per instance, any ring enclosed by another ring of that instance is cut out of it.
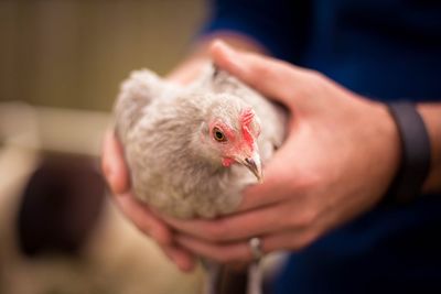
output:
<svg viewBox="0 0 441 294"><path fill-rule="evenodd" d="M129 190L129 172L123 160L123 152L112 131L107 131L103 141L101 168L114 194Z"/></svg>

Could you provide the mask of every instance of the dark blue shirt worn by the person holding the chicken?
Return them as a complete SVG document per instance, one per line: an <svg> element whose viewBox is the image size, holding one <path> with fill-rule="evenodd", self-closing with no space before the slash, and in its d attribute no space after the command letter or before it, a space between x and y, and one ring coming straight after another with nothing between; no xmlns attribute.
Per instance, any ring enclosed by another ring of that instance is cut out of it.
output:
<svg viewBox="0 0 441 294"><path fill-rule="evenodd" d="M218 0L220 30L372 99L441 101L441 1ZM273 291L441 293L440 235L441 195L379 205L291 254Z"/></svg>

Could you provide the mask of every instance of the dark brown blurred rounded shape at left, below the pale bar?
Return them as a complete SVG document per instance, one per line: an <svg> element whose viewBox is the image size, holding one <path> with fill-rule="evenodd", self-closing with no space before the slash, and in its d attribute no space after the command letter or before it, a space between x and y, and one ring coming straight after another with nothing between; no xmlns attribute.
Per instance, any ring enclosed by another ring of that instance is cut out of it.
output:
<svg viewBox="0 0 441 294"><path fill-rule="evenodd" d="M92 157L47 154L22 195L20 250L28 257L77 253L98 220L105 190Z"/></svg>

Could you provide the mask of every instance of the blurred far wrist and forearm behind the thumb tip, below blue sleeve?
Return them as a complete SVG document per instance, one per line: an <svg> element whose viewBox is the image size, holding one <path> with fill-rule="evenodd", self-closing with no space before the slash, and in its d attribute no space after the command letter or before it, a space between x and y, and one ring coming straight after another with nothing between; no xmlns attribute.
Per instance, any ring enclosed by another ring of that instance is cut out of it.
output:
<svg viewBox="0 0 441 294"><path fill-rule="evenodd" d="M246 35L218 32L198 40L190 50L189 56L168 75L168 78L185 85L197 77L204 64L209 59L209 44L215 39L219 39L243 51L266 53L263 46Z"/></svg>

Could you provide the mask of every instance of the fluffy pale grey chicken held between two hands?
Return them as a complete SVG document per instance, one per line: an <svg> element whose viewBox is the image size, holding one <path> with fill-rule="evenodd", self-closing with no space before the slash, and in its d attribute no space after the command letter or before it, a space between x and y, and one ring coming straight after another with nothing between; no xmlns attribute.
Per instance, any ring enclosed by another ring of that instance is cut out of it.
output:
<svg viewBox="0 0 441 294"><path fill-rule="evenodd" d="M175 218L233 213L286 135L280 107L212 65L186 87L133 72L115 115L136 196Z"/></svg>

